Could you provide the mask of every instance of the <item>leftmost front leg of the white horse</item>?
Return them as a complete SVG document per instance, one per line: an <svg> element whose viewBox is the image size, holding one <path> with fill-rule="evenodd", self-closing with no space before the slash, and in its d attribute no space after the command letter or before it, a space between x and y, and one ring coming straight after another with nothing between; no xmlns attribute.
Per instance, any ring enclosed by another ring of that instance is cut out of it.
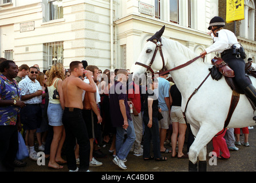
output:
<svg viewBox="0 0 256 183"><path fill-rule="evenodd" d="M196 164L199 153L199 161L206 161L206 145L211 141L212 137L221 130L219 128L214 128L214 122L210 123L211 125L203 122L202 124L203 125L200 127L198 134L196 134L195 141L190 146L188 152L190 167Z"/></svg>

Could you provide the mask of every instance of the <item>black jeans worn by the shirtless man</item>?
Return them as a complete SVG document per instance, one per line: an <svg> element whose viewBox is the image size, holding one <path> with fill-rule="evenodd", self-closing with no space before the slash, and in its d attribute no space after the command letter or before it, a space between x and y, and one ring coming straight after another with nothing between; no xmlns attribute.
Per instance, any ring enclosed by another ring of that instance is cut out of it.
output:
<svg viewBox="0 0 256 183"><path fill-rule="evenodd" d="M71 109L71 110L70 110ZM73 110L73 111L72 111ZM69 170L76 170L76 156L74 154L74 146L79 145L79 171L87 171L89 168L90 158L90 142L84 119L82 118L82 110L76 108L65 108L62 116L66 132L66 161Z"/></svg>

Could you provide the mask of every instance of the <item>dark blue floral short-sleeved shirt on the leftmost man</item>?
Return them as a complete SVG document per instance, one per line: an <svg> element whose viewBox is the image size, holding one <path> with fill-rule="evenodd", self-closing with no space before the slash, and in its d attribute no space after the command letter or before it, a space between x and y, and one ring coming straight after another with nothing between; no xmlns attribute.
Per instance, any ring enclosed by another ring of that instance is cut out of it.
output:
<svg viewBox="0 0 256 183"><path fill-rule="evenodd" d="M10 81L5 75L0 75L0 100L21 100L21 90L16 81ZM16 125L20 108L0 106L0 125Z"/></svg>

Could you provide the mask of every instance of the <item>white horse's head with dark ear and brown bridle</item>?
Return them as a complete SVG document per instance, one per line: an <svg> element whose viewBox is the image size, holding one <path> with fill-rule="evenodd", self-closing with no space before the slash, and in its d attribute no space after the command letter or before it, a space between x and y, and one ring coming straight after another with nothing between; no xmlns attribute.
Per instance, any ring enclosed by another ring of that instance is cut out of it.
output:
<svg viewBox="0 0 256 183"><path fill-rule="evenodd" d="M145 72L155 73L157 70L164 68L162 35L165 26L157 31L151 38L147 40L143 47L138 61L133 65L133 74L141 74Z"/></svg>

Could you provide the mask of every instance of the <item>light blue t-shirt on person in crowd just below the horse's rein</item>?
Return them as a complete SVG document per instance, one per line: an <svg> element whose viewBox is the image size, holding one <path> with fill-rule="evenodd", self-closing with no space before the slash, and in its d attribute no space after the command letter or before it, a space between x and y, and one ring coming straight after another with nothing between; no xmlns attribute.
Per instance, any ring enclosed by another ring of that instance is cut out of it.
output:
<svg viewBox="0 0 256 183"><path fill-rule="evenodd" d="M158 78L158 87L154 90L156 95L158 96L159 106L163 111L168 111L166 101L164 100L165 97L169 97L169 89L170 89L170 82L167 79L162 77Z"/></svg>

